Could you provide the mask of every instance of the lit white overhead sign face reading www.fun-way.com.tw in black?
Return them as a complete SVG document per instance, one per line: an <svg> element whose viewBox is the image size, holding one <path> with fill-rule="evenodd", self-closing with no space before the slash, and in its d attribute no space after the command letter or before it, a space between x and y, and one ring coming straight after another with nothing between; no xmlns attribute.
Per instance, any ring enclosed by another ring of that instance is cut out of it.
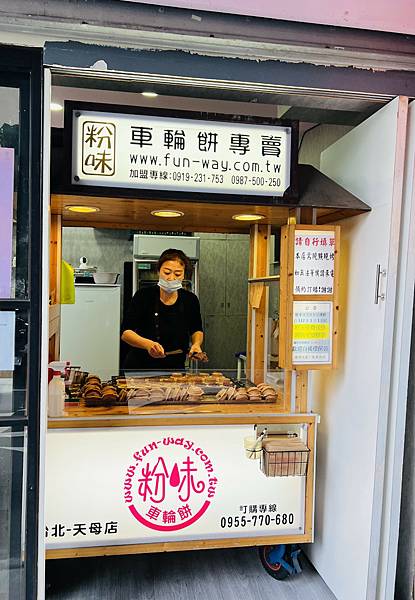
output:
<svg viewBox="0 0 415 600"><path fill-rule="evenodd" d="M72 183L282 196L291 129L75 111Z"/></svg>

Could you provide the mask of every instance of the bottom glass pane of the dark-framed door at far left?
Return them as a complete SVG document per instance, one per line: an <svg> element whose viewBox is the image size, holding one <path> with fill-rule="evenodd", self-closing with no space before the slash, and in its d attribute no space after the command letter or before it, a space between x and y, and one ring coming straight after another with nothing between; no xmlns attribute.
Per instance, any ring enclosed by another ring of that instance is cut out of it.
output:
<svg viewBox="0 0 415 600"><path fill-rule="evenodd" d="M0 598L24 598L26 429L0 427Z"/></svg>

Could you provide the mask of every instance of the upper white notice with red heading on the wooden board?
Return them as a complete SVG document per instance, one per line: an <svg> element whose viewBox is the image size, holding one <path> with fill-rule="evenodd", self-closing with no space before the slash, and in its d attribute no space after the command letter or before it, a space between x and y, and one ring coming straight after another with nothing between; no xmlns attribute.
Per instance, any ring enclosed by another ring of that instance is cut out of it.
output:
<svg viewBox="0 0 415 600"><path fill-rule="evenodd" d="M295 232L295 295L325 295L334 291L334 231Z"/></svg>

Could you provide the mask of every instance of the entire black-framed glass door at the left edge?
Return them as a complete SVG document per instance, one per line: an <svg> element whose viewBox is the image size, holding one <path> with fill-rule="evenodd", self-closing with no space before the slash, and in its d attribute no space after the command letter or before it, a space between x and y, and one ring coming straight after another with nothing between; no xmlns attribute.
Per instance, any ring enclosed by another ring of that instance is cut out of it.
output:
<svg viewBox="0 0 415 600"><path fill-rule="evenodd" d="M41 63L0 47L0 600L37 589Z"/></svg>

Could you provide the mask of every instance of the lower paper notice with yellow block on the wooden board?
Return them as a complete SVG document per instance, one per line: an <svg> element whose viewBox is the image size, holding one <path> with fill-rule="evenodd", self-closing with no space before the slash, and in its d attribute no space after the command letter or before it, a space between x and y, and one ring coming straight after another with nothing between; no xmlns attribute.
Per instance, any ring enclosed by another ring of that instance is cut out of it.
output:
<svg viewBox="0 0 415 600"><path fill-rule="evenodd" d="M293 304L293 364L331 364L333 303Z"/></svg>

